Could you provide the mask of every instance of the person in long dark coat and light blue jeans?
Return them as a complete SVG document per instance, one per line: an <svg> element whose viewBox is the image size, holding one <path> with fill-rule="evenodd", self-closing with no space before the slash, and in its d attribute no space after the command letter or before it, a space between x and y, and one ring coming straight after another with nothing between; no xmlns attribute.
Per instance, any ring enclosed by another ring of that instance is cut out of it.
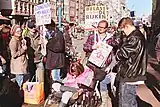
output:
<svg viewBox="0 0 160 107"><path fill-rule="evenodd" d="M45 67L51 70L53 80L60 80L60 70L65 65L65 41L63 33L56 28L55 22L46 25L48 43L46 46L46 64Z"/></svg>

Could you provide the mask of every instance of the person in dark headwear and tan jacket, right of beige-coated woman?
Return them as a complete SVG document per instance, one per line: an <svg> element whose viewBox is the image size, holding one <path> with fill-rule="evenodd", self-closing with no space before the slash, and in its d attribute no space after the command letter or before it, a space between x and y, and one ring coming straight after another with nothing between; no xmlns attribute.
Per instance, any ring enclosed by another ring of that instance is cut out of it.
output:
<svg viewBox="0 0 160 107"><path fill-rule="evenodd" d="M31 73L31 78L36 73L36 80L39 82L44 82L44 65L42 63L43 55L41 53L40 33L35 27L35 23L29 21L27 24L28 31L23 35L27 41L28 47L28 68Z"/></svg>

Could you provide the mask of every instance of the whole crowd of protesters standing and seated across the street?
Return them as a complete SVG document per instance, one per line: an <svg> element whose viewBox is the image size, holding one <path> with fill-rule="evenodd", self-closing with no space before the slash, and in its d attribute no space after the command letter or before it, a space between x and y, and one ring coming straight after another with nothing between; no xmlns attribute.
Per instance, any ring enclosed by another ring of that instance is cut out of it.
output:
<svg viewBox="0 0 160 107"><path fill-rule="evenodd" d="M101 47L98 42L113 47L101 67L89 60L84 65L80 60L70 62L66 58L67 52L75 53L70 26L65 26L63 32L53 20L45 28L37 27L34 20L29 20L25 27L1 26L0 71L2 76L14 75L21 91L23 83L31 81L34 75L35 81L44 82L48 72L51 87L61 92L59 107L66 107L69 99L81 95L83 89L78 84L97 88L101 107L106 107L108 91L116 96L118 107L138 106L136 86L146 80L147 34L144 26L137 28L129 17L122 18L118 27L110 31L108 22L101 20L98 30L84 43L87 59Z"/></svg>

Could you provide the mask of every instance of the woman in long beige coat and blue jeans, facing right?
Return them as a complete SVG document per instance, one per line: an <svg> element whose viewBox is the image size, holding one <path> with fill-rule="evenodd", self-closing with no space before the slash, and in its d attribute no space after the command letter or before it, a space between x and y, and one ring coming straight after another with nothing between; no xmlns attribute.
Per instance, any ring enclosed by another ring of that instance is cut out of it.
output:
<svg viewBox="0 0 160 107"><path fill-rule="evenodd" d="M26 41L21 39L21 29L19 25L11 28L12 38L9 43L11 51L11 73L16 75L16 81L20 88L27 76L28 60L26 55Z"/></svg>

